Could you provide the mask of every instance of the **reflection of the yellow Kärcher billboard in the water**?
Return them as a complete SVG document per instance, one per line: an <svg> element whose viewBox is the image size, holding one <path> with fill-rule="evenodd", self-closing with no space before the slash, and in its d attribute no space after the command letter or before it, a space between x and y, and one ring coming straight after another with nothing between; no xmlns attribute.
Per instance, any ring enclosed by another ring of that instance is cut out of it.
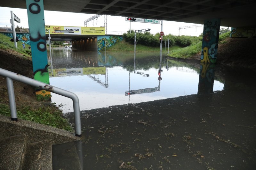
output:
<svg viewBox="0 0 256 170"><path fill-rule="evenodd" d="M106 74L105 67L73 68L73 69L49 69L49 75L53 77L74 76L83 74Z"/></svg>

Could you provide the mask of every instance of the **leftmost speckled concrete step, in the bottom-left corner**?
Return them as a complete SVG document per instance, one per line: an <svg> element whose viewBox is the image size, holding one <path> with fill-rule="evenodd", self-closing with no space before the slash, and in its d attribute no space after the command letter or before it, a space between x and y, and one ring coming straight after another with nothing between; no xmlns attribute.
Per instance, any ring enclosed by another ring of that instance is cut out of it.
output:
<svg viewBox="0 0 256 170"><path fill-rule="evenodd" d="M26 152L27 136L0 139L0 169L21 169Z"/></svg>

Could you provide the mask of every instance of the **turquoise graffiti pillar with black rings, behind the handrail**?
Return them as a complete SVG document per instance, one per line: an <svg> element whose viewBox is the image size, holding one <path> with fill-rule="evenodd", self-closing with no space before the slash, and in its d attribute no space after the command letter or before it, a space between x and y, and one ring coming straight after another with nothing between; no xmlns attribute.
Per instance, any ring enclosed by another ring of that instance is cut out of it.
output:
<svg viewBox="0 0 256 170"><path fill-rule="evenodd" d="M43 0L26 0L34 79L49 84ZM36 89L36 95L50 94Z"/></svg>

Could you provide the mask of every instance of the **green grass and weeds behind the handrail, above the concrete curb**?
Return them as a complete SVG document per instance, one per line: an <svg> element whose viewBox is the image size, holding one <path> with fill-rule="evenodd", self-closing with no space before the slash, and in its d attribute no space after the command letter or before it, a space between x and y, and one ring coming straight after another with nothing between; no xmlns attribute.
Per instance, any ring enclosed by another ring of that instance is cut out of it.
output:
<svg viewBox="0 0 256 170"><path fill-rule="evenodd" d="M0 114L10 116L10 107L5 104L0 104ZM33 109L30 106L17 107L17 116L18 119L25 119L68 131L72 130L68 121L62 117L62 112L54 108L54 106L40 107L38 109Z"/></svg>

